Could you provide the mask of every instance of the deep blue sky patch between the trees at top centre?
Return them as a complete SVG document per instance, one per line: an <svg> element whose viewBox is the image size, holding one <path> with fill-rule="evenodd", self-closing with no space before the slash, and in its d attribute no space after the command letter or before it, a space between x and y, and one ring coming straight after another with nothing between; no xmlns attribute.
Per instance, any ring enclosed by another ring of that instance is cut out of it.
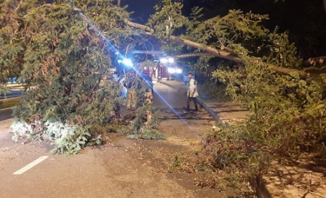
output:
<svg viewBox="0 0 326 198"><path fill-rule="evenodd" d="M122 5L128 4L128 11L134 11L131 16L137 23L146 23L151 14L154 14L154 6L160 0L121 0Z"/></svg>

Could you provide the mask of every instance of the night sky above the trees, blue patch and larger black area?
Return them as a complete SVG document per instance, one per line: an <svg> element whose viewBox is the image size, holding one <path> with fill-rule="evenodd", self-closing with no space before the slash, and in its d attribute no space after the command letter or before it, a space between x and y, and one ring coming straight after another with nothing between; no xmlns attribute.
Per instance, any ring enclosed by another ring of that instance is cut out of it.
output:
<svg viewBox="0 0 326 198"><path fill-rule="evenodd" d="M184 3L183 14L189 14L194 6L203 7L206 20L216 15L226 15L231 9L244 12L268 14L270 20L263 21L269 30L276 26L280 32L288 31L290 42L295 42L304 59L325 55L326 53L326 13L322 0L179 0ZM131 18L136 23L145 24L154 6L160 0L121 0L121 5L128 4L128 11L133 11ZM295 5L295 6L294 6Z"/></svg>

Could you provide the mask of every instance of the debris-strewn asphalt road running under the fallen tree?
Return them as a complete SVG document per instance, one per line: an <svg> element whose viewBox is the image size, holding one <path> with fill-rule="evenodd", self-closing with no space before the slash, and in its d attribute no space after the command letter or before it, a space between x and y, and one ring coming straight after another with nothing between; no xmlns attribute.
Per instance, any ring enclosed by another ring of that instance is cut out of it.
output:
<svg viewBox="0 0 326 198"><path fill-rule="evenodd" d="M0 197L210 197L199 194L205 191L203 189L192 189L197 188L193 185L193 180L187 183L184 178L158 173L159 168L153 163L160 165L167 158L173 159L173 156L163 155L173 154L175 151L171 149L188 138L197 140L198 134L194 135L192 132L207 127L208 121L205 119L211 118L205 112L183 114L186 101L184 95L159 83L154 88L156 94L153 106L157 115L162 119L174 119L162 123L164 133L168 136L168 140L163 142L127 140L125 135L116 135L110 137L110 144L86 148L80 155L64 157L50 154L51 146L48 144L32 141L13 144L8 128L11 121L0 122ZM150 144L154 146L149 147ZM162 149L170 150L164 150L156 156L152 152L156 145L163 145ZM145 150L140 151L143 148ZM24 168L21 174L13 174L42 156L46 156L46 159L34 167ZM149 156L148 159L146 156Z"/></svg>

